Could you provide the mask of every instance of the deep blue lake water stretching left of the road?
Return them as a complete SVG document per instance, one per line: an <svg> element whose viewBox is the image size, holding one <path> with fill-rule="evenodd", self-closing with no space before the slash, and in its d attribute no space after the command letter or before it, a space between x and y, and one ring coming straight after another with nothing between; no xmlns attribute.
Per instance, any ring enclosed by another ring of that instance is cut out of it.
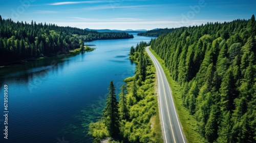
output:
<svg viewBox="0 0 256 143"><path fill-rule="evenodd" d="M97 40L93 52L48 57L0 68L0 142L92 142L88 124L105 106L111 80L134 75L132 45L154 37ZM92 46L93 47L93 46ZM66 58L65 58L66 57ZM8 85L8 139L4 139L4 85Z"/></svg>

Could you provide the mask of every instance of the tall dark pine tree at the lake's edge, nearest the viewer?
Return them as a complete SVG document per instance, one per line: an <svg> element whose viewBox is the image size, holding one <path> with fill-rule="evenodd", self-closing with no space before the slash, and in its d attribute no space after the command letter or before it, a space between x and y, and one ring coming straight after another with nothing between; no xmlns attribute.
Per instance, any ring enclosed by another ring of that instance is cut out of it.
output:
<svg viewBox="0 0 256 143"><path fill-rule="evenodd" d="M119 134L119 113L113 81L110 82L108 95L108 98L106 98L106 107L103 110L103 117L110 136L115 138Z"/></svg>

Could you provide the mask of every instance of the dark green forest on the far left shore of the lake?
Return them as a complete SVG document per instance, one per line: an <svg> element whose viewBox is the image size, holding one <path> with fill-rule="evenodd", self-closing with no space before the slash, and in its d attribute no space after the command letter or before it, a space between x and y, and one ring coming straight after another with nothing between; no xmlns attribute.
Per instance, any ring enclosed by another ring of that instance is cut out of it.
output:
<svg viewBox="0 0 256 143"><path fill-rule="evenodd" d="M0 64L57 55L83 47L84 41L133 38L127 33L99 33L31 21L14 22L0 15Z"/></svg>

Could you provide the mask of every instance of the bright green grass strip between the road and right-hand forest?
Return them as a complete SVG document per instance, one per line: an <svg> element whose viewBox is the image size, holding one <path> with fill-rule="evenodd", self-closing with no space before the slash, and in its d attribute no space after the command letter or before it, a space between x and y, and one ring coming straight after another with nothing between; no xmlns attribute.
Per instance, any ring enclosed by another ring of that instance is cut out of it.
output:
<svg viewBox="0 0 256 143"><path fill-rule="evenodd" d="M164 70L164 74L173 94L175 107L187 142L207 142L199 133L199 125L194 116L190 115L189 111L182 105L181 86L170 76L169 70L164 65L164 61L151 48L150 51L157 58Z"/></svg>

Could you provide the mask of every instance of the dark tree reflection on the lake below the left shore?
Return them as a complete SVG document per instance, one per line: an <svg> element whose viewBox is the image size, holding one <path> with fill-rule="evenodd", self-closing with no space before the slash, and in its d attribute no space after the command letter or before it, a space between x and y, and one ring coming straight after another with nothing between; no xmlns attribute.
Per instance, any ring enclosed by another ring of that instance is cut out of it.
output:
<svg viewBox="0 0 256 143"><path fill-rule="evenodd" d="M2 67L0 68L0 85L2 86L7 79L11 80L12 83L38 85L47 79L49 73L57 75L58 70L63 68L64 61L57 57L47 57L14 66Z"/></svg>

